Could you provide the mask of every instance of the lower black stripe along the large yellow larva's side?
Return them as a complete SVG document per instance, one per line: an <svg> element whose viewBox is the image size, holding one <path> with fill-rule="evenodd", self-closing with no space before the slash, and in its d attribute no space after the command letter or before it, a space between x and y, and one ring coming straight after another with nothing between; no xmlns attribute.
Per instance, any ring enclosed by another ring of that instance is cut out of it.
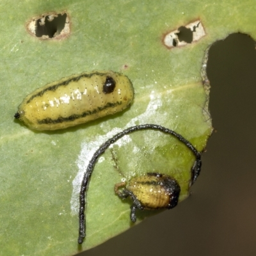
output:
<svg viewBox="0 0 256 256"><path fill-rule="evenodd" d="M121 105L121 104L122 104L122 102L119 102L119 101L115 102L115 103L108 102L104 107L99 107L97 109L93 109L92 111L85 111L81 115L70 115L68 117L60 116L57 119L51 119L51 118L47 117L42 120L37 120L37 124L61 124L63 122L72 122L76 119L83 118L88 115L90 116L90 115L96 114L96 113L98 113L102 110L105 110L107 108L115 108L116 106Z"/></svg>

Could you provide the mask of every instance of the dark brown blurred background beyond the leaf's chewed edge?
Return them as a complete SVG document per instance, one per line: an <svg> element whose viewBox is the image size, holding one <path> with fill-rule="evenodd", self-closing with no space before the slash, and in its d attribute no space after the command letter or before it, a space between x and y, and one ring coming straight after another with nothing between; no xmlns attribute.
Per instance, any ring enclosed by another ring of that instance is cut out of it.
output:
<svg viewBox="0 0 256 256"><path fill-rule="evenodd" d="M191 196L77 256L256 255L256 50L233 34L209 52L213 132Z"/></svg>

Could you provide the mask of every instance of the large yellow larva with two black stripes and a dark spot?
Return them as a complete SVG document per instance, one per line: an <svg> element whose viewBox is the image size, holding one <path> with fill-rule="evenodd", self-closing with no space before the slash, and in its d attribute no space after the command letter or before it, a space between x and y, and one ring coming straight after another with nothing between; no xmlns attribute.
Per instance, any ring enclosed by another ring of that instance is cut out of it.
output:
<svg viewBox="0 0 256 256"><path fill-rule="evenodd" d="M84 72L38 88L14 117L35 130L57 130L112 115L131 105L127 76L113 71Z"/></svg>

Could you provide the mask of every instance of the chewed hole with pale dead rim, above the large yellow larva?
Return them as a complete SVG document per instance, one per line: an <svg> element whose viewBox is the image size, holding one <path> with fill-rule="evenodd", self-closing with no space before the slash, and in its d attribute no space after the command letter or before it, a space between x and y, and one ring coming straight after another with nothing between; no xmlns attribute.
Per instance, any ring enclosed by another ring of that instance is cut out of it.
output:
<svg viewBox="0 0 256 256"><path fill-rule="evenodd" d="M70 22L66 12L45 13L27 23L29 33L42 40L63 39L70 35Z"/></svg>

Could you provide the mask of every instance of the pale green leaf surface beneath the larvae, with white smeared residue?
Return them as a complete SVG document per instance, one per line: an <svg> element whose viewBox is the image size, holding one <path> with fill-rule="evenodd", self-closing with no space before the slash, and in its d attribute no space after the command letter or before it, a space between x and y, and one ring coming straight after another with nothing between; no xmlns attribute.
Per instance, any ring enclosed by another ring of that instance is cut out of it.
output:
<svg viewBox="0 0 256 256"><path fill-rule="evenodd" d="M120 200L114 185L134 175L168 173L179 181L184 200L193 154L161 132L134 132L96 164L87 236L77 245L81 179L101 143L132 125L152 123L204 149L212 132L209 87L200 75L205 50L237 31L255 38L255 8L255 1L1 1L0 255L72 255L124 232L132 227L131 202ZM63 11L70 16L68 38L29 35L29 19ZM173 49L163 45L164 34L198 17L206 31L201 40ZM55 132L31 131L14 120L28 93L90 70L128 76L135 92L131 108ZM138 212L137 223L157 212Z"/></svg>

